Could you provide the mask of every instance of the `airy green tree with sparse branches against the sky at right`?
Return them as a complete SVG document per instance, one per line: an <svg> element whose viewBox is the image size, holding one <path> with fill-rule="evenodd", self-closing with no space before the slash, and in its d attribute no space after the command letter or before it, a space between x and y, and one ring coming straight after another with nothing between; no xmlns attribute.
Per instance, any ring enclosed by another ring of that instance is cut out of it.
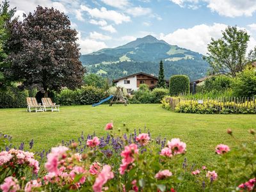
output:
<svg viewBox="0 0 256 192"><path fill-rule="evenodd" d="M212 72L236 77L246 65L246 49L250 36L237 26L228 26L222 37L208 44L204 59L210 64Z"/></svg>

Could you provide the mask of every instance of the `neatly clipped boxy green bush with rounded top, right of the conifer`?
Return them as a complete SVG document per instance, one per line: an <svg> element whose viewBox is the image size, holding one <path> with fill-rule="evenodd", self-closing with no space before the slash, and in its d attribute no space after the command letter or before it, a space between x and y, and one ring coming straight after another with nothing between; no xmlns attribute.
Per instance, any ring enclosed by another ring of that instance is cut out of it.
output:
<svg viewBox="0 0 256 192"><path fill-rule="evenodd" d="M176 75L170 77L170 95L180 95L189 93L189 77Z"/></svg>

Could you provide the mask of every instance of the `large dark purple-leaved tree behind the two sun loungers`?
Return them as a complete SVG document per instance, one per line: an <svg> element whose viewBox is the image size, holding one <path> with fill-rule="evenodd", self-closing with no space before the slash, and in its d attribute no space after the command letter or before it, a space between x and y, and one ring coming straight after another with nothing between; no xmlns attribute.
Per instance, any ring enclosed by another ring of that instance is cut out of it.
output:
<svg viewBox="0 0 256 192"><path fill-rule="evenodd" d="M45 97L48 90L81 86L84 68L76 35L67 15L38 6L23 22L16 19L10 24L11 67L6 74L25 86L35 84Z"/></svg>

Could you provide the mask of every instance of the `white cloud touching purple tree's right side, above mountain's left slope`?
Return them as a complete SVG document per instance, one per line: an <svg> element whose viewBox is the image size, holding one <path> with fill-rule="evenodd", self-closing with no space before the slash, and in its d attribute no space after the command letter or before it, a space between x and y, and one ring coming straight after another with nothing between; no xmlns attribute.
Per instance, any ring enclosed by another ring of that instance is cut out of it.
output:
<svg viewBox="0 0 256 192"><path fill-rule="evenodd" d="M90 38L81 38L81 33L79 32L77 44L81 48L81 54L88 54L93 51L98 51L99 49L104 49L107 45L104 42L99 42L97 40L92 40Z"/></svg>

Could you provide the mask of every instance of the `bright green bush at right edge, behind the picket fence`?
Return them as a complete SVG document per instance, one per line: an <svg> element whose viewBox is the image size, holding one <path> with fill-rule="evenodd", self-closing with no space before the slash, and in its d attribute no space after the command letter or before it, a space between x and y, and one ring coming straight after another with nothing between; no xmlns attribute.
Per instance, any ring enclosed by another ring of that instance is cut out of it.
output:
<svg viewBox="0 0 256 192"><path fill-rule="evenodd" d="M233 95L236 97L256 96L256 72L255 69L246 68L239 73L232 84Z"/></svg>

